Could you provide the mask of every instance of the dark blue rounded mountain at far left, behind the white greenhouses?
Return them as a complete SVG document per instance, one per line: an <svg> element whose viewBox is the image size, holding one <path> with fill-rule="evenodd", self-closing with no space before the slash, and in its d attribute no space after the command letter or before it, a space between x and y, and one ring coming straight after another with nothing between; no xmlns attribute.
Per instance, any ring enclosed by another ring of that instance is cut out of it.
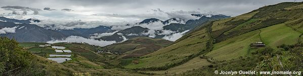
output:
<svg viewBox="0 0 303 76"><path fill-rule="evenodd" d="M16 33L0 34L16 38L18 42L46 42L53 39L62 39L67 37L55 30L45 29L34 24L15 24L13 22L0 22L0 28L17 27Z"/></svg>

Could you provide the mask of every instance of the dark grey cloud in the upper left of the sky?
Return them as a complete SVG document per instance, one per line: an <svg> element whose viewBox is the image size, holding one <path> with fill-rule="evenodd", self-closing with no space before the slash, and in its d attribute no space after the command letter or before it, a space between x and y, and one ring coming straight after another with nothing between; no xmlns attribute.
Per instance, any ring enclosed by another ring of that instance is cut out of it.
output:
<svg viewBox="0 0 303 76"><path fill-rule="evenodd" d="M4 6L4 7L1 7L1 8L4 9L4 10L13 11L12 14L14 14L14 15L16 15L16 11L23 11L23 14L25 14L25 15L27 14L27 12L25 12L25 11L33 11L34 15L38 15L39 14L38 11L41 11L40 9L29 8L29 7L21 7L21 6Z"/></svg>

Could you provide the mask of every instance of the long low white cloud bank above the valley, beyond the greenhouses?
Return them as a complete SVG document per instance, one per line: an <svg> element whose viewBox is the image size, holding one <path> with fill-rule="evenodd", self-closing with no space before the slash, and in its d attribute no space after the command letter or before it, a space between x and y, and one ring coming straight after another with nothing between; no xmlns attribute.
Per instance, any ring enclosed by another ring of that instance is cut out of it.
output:
<svg viewBox="0 0 303 76"><path fill-rule="evenodd" d="M116 43L116 41L95 40L95 39L83 38L80 36L69 36L62 40L51 40L51 41L48 41L47 43L53 44L53 43L59 43L59 42L82 42L82 43L88 43L88 44L98 45L98 46L106 46L106 45Z"/></svg>

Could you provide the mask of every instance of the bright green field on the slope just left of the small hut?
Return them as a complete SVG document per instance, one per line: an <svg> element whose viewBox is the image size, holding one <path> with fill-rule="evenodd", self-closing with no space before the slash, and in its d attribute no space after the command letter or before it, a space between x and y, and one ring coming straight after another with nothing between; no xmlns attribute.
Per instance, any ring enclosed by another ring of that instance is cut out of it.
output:
<svg viewBox="0 0 303 76"><path fill-rule="evenodd" d="M259 31L255 30L234 38L215 43L213 50L206 56L213 57L216 60L230 60L247 54L250 43L260 41Z"/></svg>

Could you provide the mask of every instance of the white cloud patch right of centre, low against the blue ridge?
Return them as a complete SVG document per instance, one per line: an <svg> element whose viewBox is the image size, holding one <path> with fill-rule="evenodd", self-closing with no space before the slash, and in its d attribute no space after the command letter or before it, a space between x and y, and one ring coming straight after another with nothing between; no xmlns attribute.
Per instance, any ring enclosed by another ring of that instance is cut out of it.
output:
<svg viewBox="0 0 303 76"><path fill-rule="evenodd" d="M169 40L169 41L176 41L179 38L181 38L184 35L184 33L188 32L188 31L189 30L186 30L186 31L183 31L183 32L180 32L180 33L174 33L172 35L166 35L162 39Z"/></svg>

